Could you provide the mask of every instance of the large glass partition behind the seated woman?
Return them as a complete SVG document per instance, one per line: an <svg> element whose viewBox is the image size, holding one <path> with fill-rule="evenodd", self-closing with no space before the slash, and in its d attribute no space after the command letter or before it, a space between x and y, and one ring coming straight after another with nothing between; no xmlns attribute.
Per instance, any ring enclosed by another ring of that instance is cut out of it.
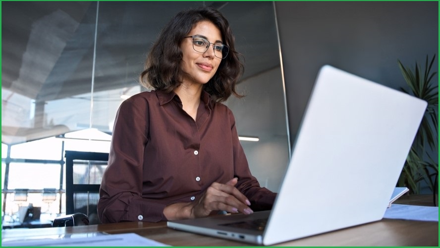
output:
<svg viewBox="0 0 440 248"><path fill-rule="evenodd" d="M19 179L12 177L19 177L15 171L20 166L27 168L21 165L22 159L35 160L24 162L26 166L53 168L57 164L56 188L62 194L66 147L108 152L110 138L106 135L111 135L117 108L124 99L144 90L138 75L159 32L175 13L202 5L218 8L229 20L236 49L245 59L238 88L246 97L231 97L226 105L235 115L239 135L258 139L241 141L252 173L262 186L278 190L289 161L290 142L273 2L1 4L2 214L9 202L4 200L13 198L6 197L13 194L8 181L14 188L20 187ZM75 136L84 129L96 132L99 138ZM5 149L13 153L8 155ZM35 171L34 176L36 182L55 177L43 170ZM30 182L21 187L43 193L41 186ZM64 195L57 199L63 201ZM59 204L58 213L63 209Z"/></svg>

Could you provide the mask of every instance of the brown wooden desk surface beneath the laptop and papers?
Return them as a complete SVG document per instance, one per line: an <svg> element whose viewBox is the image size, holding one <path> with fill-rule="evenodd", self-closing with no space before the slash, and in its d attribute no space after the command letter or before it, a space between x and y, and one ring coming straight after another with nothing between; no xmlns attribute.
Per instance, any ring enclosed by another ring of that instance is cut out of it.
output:
<svg viewBox="0 0 440 248"><path fill-rule="evenodd" d="M248 246L246 243L172 230L165 222L125 222L78 227L3 230L1 238L106 232L136 233L170 246ZM279 246L435 246L439 223L383 219L381 221L290 241Z"/></svg>

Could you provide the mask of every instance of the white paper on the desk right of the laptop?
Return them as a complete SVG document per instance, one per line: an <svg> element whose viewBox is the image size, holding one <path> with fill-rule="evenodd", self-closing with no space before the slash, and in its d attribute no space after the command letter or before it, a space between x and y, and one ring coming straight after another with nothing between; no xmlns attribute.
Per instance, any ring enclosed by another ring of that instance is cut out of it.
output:
<svg viewBox="0 0 440 248"><path fill-rule="evenodd" d="M439 207L391 204L385 211L386 219L439 221Z"/></svg>

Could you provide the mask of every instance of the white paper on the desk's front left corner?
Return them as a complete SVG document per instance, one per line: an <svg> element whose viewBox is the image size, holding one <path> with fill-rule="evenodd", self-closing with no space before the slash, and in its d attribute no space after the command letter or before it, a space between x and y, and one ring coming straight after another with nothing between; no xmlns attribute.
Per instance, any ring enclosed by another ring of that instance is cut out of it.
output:
<svg viewBox="0 0 440 248"><path fill-rule="evenodd" d="M1 246L20 247L162 247L167 246L134 233L100 235L88 238L41 239L1 242Z"/></svg>

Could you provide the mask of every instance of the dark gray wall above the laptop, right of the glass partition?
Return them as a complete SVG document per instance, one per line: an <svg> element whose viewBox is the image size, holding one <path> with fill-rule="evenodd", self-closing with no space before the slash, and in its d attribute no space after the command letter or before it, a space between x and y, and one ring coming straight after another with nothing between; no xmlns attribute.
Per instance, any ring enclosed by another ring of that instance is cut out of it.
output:
<svg viewBox="0 0 440 248"><path fill-rule="evenodd" d="M397 60L414 67L438 55L438 9L437 1L276 1L291 142L324 64L406 87Z"/></svg>

